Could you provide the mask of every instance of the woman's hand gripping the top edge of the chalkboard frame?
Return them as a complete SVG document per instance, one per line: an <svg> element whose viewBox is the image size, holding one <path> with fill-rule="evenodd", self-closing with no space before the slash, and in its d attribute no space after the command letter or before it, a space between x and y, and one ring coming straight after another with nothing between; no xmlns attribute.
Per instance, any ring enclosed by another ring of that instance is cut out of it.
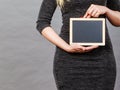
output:
<svg viewBox="0 0 120 90"><path fill-rule="evenodd" d="M83 18L99 17L107 12L107 7L92 4L86 11Z"/></svg>

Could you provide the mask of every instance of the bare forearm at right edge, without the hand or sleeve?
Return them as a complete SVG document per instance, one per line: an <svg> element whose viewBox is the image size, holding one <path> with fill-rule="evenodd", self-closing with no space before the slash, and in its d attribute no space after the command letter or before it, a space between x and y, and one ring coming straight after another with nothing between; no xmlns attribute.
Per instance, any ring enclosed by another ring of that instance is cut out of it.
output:
<svg viewBox="0 0 120 90"><path fill-rule="evenodd" d="M107 8L106 16L111 24L113 24L114 26L120 26L120 12L113 11Z"/></svg>

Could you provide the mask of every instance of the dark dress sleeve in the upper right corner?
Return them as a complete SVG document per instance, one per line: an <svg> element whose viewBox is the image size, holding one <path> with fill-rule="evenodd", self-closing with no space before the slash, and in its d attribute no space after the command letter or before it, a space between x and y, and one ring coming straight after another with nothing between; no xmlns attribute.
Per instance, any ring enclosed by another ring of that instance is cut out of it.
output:
<svg viewBox="0 0 120 90"><path fill-rule="evenodd" d="M119 0L107 0L107 7L115 11L120 11L120 1Z"/></svg>

